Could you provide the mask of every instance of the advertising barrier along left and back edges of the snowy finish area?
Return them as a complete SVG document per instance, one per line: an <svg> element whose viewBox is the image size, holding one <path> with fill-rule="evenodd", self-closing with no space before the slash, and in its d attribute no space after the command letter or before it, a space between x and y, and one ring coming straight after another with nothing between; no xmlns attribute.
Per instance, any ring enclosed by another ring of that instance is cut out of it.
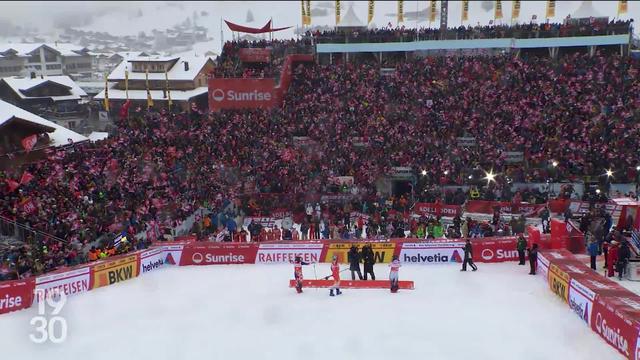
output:
<svg viewBox="0 0 640 360"><path fill-rule="evenodd" d="M474 260L503 262L518 259L515 237L471 239ZM165 266L292 263L295 256L307 262L328 263L336 255L347 262L352 245L371 244L376 263L389 263L394 255L403 263L420 265L461 262L464 241L391 239L387 241L278 241L268 243L160 242L150 249L62 268L29 279L0 283L0 314L26 309L54 291L67 296L144 276ZM40 297L37 293L44 294Z"/></svg>

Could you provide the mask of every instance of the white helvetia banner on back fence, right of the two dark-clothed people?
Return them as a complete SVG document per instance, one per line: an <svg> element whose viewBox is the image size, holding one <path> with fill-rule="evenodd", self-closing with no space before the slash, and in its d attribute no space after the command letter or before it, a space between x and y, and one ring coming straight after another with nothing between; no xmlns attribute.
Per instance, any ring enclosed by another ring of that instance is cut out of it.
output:
<svg viewBox="0 0 640 360"><path fill-rule="evenodd" d="M462 262L463 242L454 243L403 243L400 261L411 264L447 264Z"/></svg>

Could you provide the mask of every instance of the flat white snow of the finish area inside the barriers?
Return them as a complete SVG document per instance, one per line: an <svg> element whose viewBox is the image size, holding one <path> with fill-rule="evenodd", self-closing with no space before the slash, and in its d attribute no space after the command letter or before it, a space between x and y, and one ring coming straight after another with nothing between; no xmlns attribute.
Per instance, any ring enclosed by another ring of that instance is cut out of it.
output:
<svg viewBox="0 0 640 360"><path fill-rule="evenodd" d="M169 267L70 297L60 344L29 339L37 306L0 316L2 358L623 359L528 266L478 266L405 265L415 290L337 297L288 288L291 265ZM375 272L386 279L388 267Z"/></svg>

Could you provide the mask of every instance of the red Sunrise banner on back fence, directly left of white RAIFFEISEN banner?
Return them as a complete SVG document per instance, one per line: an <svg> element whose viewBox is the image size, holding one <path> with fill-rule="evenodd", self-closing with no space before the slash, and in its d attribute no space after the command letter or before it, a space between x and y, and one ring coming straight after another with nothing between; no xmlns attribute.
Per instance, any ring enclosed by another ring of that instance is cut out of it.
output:
<svg viewBox="0 0 640 360"><path fill-rule="evenodd" d="M189 244L182 249L180 266L253 264L258 244L205 243Z"/></svg>

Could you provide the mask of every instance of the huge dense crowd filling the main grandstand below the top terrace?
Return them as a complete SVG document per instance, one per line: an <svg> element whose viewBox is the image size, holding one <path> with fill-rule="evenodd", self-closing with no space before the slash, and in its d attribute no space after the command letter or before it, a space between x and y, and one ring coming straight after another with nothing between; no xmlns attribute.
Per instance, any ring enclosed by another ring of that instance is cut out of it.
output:
<svg viewBox="0 0 640 360"><path fill-rule="evenodd" d="M269 44L284 53L296 43ZM241 46L225 46L224 76L238 75L232 66ZM146 231L153 241L200 207L237 219L255 211L243 193L340 192L332 181L338 176L355 180L351 208L325 204L327 219L296 221L309 232L305 237L437 237L448 231L438 219L385 216L410 206L407 198L389 204L376 192L378 178L394 167L411 168L420 177L415 201L453 204L464 202L465 192L444 193L438 186L471 183L479 185L480 198L544 202L548 194L512 193L510 183L577 180L606 169L614 169L618 181L634 181L640 163L639 67L630 58L600 53L557 61L418 58L399 62L391 73L368 64L314 64L295 69L282 108L206 114L138 109L105 141L0 173L2 180L23 172L34 176L18 189L0 189L0 215L66 240L45 238L11 249L2 268L24 276L84 261L82 249L121 231ZM460 137L475 143L458 146ZM524 161L507 163L508 151L523 152ZM480 174L487 169L500 175L483 186ZM296 199L285 208L303 209L304 197ZM358 218L350 221L351 211L370 215L366 230ZM519 225L492 225L459 221L448 235L521 232ZM236 221L229 238L241 228ZM129 239L131 248L145 246ZM108 256L108 242L99 246L105 251L97 256Z"/></svg>

